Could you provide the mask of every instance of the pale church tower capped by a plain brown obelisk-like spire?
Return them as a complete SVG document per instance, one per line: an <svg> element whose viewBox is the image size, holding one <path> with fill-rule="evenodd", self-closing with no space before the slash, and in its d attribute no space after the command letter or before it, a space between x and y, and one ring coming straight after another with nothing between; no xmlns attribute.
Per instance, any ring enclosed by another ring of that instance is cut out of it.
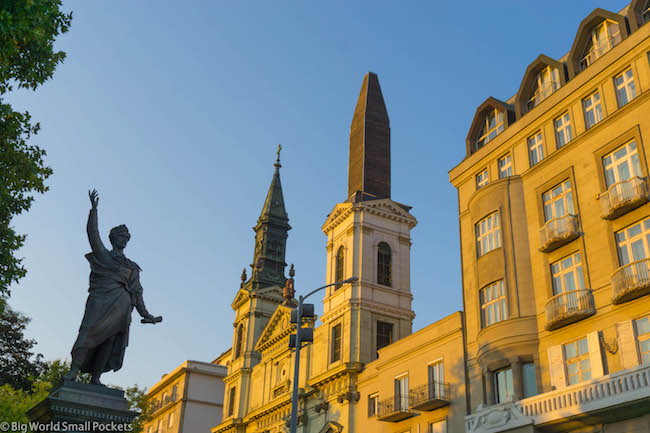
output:
<svg viewBox="0 0 650 433"><path fill-rule="evenodd" d="M390 171L388 113L377 75L368 73L350 128L348 197L323 225L327 283L359 278L327 289L321 320L328 369L373 361L411 333L410 231L417 221L391 199Z"/></svg>

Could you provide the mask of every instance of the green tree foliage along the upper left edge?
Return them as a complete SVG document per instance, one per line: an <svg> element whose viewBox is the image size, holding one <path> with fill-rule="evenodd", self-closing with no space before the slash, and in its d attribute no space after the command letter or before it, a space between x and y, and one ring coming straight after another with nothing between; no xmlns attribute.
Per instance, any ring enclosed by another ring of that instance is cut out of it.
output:
<svg viewBox="0 0 650 433"><path fill-rule="evenodd" d="M35 90L52 77L65 58L54 51L54 40L71 20L60 0L0 0L0 296L9 295L9 286L26 273L15 255L25 235L14 231L11 220L29 210L32 193L47 191L45 180L52 174L45 151L27 143L39 124L5 98L14 88Z"/></svg>

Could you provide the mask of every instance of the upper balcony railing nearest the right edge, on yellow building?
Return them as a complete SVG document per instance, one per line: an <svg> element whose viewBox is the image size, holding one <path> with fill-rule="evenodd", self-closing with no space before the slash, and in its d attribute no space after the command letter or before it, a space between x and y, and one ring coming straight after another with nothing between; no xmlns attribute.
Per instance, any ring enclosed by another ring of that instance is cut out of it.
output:
<svg viewBox="0 0 650 433"><path fill-rule="evenodd" d="M645 178L633 177L617 182L600 195L601 216L613 220L648 202L648 185Z"/></svg>

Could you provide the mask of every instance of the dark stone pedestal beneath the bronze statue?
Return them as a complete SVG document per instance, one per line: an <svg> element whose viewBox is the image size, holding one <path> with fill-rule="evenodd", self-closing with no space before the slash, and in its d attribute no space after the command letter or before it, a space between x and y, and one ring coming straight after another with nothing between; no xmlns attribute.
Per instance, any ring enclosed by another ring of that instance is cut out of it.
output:
<svg viewBox="0 0 650 433"><path fill-rule="evenodd" d="M53 388L45 400L31 408L27 415L33 422L52 423L53 428L57 429L55 431L95 432L130 431L129 424L139 413L129 410L122 390L103 385L63 382Z"/></svg>

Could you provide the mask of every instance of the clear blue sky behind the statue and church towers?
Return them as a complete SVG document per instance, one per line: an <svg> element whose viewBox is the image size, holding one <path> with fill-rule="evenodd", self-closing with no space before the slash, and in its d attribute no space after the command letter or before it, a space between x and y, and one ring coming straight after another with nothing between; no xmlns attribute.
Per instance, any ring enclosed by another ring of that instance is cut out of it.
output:
<svg viewBox="0 0 650 433"><path fill-rule="evenodd" d="M41 122L33 143L50 191L15 219L28 275L11 305L46 358L69 357L88 288L87 191L99 224L126 224L150 311L134 312L125 367L103 381L153 385L232 341L230 303L282 143L296 289L325 279L321 226L347 195L348 135L363 76L376 72L392 130L392 197L413 206L412 291L420 329L462 308L458 204L447 172L476 107L507 99L539 54L561 57L594 8L534 2L64 0L68 57L12 98ZM322 311L317 302L317 308Z"/></svg>

